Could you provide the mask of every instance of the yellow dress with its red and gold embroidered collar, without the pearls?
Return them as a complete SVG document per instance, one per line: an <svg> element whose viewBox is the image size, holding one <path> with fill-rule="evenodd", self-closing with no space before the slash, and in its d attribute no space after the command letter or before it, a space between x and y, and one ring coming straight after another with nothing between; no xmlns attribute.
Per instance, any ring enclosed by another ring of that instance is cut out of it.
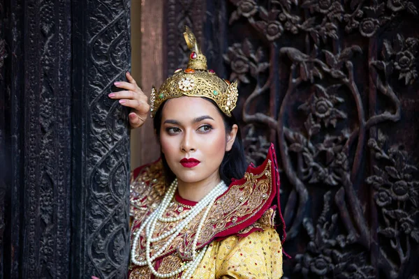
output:
<svg viewBox="0 0 419 279"><path fill-rule="evenodd" d="M198 248L207 245L207 251L191 278L281 278L281 239L274 229L276 210L270 207L277 194L272 184L279 183L277 172L272 172L272 167L276 167L274 161L274 155L272 157L271 154L264 165L253 168L253 171L248 168L244 178L233 182L212 206L198 238ZM131 182L131 240L165 193L167 187L162 169L161 161L142 167ZM164 217L179 216L194 204L175 195ZM202 215L198 214L156 259L156 271L169 273L191 259L191 243ZM153 237L175 225L158 223ZM145 259L143 234L135 247L135 257L140 261ZM165 242L166 239L153 243L152 251L159 250ZM178 274L172 278L181 276ZM147 265L136 266L131 263L129 278L154 278L154 275Z"/></svg>

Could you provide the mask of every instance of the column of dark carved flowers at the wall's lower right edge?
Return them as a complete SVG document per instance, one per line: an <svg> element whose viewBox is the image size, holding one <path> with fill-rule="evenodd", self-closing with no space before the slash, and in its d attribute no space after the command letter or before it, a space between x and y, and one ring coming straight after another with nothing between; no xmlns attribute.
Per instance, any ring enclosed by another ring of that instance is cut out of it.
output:
<svg viewBox="0 0 419 279"><path fill-rule="evenodd" d="M378 227L381 268L390 270L390 278L404 273L411 261L411 244L419 243L418 167L411 165L403 146L388 146L388 137L378 130L378 139L370 139L379 165L367 183L374 188L374 201L383 221ZM397 255L396 259L390 255Z"/></svg>

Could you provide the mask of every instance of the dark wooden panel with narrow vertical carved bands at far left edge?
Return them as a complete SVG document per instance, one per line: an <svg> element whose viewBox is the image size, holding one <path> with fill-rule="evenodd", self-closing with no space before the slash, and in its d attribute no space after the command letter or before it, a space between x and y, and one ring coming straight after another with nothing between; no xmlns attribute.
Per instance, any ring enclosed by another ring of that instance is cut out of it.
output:
<svg viewBox="0 0 419 279"><path fill-rule="evenodd" d="M70 258L69 1L3 1L3 278L66 278Z"/></svg>

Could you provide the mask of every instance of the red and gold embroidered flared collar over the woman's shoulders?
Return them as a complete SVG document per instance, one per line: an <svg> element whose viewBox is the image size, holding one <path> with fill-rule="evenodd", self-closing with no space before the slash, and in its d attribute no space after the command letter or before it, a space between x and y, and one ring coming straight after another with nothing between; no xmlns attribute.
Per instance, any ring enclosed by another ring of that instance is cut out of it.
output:
<svg viewBox="0 0 419 279"><path fill-rule="evenodd" d="M147 165L140 170L137 178L131 184L131 213L134 217L133 228L138 227L145 216L152 213L159 205L165 191L165 179L161 161ZM205 220L198 239L198 248L205 246L214 239L223 239L230 235L246 236L254 230L264 230L274 227L274 209L270 206L277 194L279 174L277 172L274 149L271 146L265 162L259 167L249 166L244 177L230 184L228 190L215 202ZM170 211L172 206L169 206ZM175 211L175 207L172 209ZM192 255L192 243L204 212L201 212L185 227L166 248L161 257L177 252L182 259ZM170 213L168 213L170 214ZM169 217L169 216L167 216ZM175 226L174 223L159 224L160 232ZM165 243L154 243L161 247ZM141 241L139 241L141 242ZM136 248L138 257L144 257L142 244Z"/></svg>

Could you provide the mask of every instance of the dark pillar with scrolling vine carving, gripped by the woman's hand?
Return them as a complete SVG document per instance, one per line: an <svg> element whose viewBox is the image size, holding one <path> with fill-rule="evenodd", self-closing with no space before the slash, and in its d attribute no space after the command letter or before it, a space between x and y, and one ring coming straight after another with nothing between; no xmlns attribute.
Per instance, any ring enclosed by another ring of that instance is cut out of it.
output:
<svg viewBox="0 0 419 279"><path fill-rule="evenodd" d="M131 61L129 1L73 4L73 278L126 278L129 134L108 98Z"/></svg>

